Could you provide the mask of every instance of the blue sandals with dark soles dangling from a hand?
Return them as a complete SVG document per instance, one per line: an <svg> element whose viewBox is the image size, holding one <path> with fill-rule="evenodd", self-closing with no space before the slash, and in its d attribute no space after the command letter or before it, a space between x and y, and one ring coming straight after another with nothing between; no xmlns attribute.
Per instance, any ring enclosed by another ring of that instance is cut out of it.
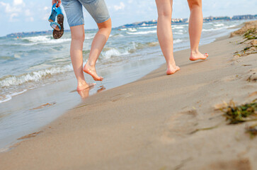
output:
<svg viewBox="0 0 257 170"><path fill-rule="evenodd" d="M55 18L57 16L57 22L55 22ZM59 39L62 37L64 33L64 26L63 26L63 21L64 21L64 15L62 13L62 8L56 7L56 4L52 5L52 13L48 19L50 22L50 26L54 29L52 32L52 36L55 39Z"/></svg>

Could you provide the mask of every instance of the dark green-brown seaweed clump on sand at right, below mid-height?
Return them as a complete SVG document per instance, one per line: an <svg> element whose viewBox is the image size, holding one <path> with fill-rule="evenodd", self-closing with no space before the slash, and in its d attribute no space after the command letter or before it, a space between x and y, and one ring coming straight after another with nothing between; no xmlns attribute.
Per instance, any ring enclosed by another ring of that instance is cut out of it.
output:
<svg viewBox="0 0 257 170"><path fill-rule="evenodd" d="M234 102L231 101L230 106L221 108L220 110L224 112L224 117L229 121L229 125L254 121L257 120L256 101L257 98L251 103L246 103L241 106L235 106Z"/></svg>

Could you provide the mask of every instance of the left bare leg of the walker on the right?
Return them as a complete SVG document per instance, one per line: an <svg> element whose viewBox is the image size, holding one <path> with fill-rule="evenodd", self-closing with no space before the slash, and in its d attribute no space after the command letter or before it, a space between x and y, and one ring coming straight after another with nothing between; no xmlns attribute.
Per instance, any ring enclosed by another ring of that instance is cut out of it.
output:
<svg viewBox="0 0 257 170"><path fill-rule="evenodd" d="M180 68L176 66L173 57L173 35L171 29L172 0L156 0L158 11L157 36L164 54L167 71L166 74L174 74Z"/></svg>

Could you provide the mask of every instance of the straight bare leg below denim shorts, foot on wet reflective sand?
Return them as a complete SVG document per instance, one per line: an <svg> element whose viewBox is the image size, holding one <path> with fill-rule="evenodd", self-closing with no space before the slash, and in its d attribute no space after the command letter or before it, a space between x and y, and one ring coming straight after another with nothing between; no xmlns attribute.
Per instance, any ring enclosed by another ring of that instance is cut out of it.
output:
<svg viewBox="0 0 257 170"><path fill-rule="evenodd" d="M72 66L74 69L74 73L76 75L76 79L78 81L78 86L76 88L77 91L81 91L87 89L89 86L93 86L94 84L87 84L84 78L83 73L83 42L85 38L84 33L84 25L71 27L72 32L72 43L71 43L71 58L72 58Z"/></svg>

